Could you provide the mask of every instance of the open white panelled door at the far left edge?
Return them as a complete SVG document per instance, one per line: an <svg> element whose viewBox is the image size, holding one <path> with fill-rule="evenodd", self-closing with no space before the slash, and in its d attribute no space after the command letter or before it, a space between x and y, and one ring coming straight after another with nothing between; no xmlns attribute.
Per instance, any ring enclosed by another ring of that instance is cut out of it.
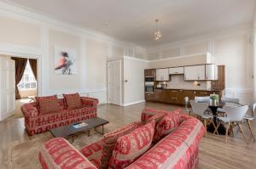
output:
<svg viewBox="0 0 256 169"><path fill-rule="evenodd" d="M0 121L15 113L15 60L0 56Z"/></svg>

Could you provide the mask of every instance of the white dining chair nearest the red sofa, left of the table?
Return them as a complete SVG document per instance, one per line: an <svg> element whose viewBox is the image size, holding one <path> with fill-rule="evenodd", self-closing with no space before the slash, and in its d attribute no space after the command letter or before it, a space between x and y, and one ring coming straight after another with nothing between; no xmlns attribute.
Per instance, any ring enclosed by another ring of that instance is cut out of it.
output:
<svg viewBox="0 0 256 169"><path fill-rule="evenodd" d="M206 137L207 137L207 125L211 124L216 129L216 126L213 122L213 115L209 115L206 113L208 108L207 103L196 103L195 100L190 100L190 105L192 108L192 113L200 117L200 120L204 122L204 126L206 128Z"/></svg>

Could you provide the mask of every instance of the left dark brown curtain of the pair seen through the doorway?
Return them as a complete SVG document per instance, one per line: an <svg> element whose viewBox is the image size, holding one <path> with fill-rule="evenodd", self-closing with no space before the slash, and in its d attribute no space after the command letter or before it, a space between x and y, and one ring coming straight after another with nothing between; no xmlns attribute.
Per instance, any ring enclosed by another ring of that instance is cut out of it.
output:
<svg viewBox="0 0 256 169"><path fill-rule="evenodd" d="M21 99L20 98L20 92L18 89L18 84L23 76L23 73L26 69L26 62L27 59L24 58L15 58L12 57L11 59L15 60L15 98L16 99Z"/></svg>

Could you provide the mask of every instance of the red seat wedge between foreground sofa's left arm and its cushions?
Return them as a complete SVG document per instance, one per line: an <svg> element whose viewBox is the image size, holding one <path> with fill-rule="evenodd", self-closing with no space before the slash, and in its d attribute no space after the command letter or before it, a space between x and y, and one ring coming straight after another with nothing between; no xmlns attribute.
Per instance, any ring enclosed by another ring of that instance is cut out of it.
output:
<svg viewBox="0 0 256 169"><path fill-rule="evenodd" d="M102 157L102 139L94 144L85 146L80 151L94 166L99 168Z"/></svg>

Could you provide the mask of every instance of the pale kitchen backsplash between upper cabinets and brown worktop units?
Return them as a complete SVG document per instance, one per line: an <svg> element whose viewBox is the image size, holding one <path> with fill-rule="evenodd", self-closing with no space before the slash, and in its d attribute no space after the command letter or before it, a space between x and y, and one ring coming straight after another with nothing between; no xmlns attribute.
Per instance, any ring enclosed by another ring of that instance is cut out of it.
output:
<svg viewBox="0 0 256 169"><path fill-rule="evenodd" d="M162 82L159 82L161 84ZM192 89L192 90L209 90L211 89L211 82L209 81L198 81L198 82L190 82L184 81L183 75L172 75L172 80L170 82L166 82L166 88L173 89Z"/></svg>

